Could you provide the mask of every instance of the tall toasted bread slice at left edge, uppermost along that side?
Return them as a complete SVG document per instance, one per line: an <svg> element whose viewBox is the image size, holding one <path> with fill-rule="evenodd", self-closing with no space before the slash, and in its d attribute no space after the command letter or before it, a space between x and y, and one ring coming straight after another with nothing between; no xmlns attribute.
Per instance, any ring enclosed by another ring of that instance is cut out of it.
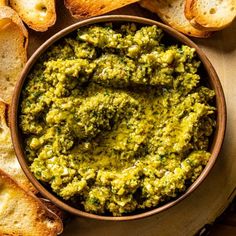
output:
<svg viewBox="0 0 236 236"><path fill-rule="evenodd" d="M0 7L0 99L11 102L15 83L27 60L28 32L17 13Z"/></svg>

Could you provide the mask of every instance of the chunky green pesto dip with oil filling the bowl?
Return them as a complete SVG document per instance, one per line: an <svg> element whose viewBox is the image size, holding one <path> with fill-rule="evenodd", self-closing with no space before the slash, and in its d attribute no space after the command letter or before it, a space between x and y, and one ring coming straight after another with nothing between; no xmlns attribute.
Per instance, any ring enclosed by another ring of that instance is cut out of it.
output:
<svg viewBox="0 0 236 236"><path fill-rule="evenodd" d="M30 170L81 210L162 205L210 158L215 93L195 49L166 39L157 26L84 27L28 75L19 125Z"/></svg>

